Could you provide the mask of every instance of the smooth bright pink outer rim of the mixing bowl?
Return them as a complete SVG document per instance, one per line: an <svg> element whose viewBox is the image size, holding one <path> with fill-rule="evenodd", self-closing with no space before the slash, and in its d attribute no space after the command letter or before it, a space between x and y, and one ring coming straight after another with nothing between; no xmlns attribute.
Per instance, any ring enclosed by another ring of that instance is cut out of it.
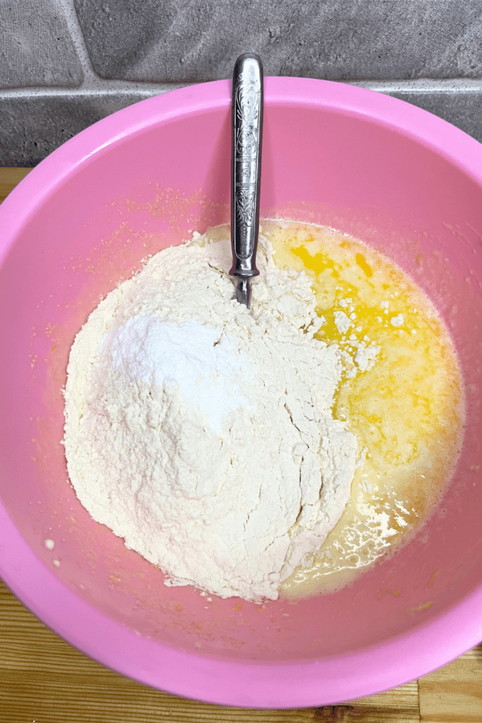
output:
<svg viewBox="0 0 482 723"><path fill-rule="evenodd" d="M482 145L402 100L353 85L293 77L265 78L264 99L268 108L335 110L391 127L431 147L482 186ZM36 208L96 154L157 124L218 108L228 113L230 106L231 81L192 85L135 103L68 140L2 203L0 265ZM289 663L207 658L143 638L79 598L35 555L1 502L0 531L1 577L43 623L123 675L200 701L257 708L341 703L425 675L482 639L481 585L429 623L355 654Z"/></svg>

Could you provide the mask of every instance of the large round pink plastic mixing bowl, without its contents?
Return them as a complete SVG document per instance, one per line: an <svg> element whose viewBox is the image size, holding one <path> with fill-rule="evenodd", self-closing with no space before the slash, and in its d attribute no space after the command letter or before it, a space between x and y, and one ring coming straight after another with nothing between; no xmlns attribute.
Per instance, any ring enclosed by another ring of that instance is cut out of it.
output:
<svg viewBox="0 0 482 723"><path fill-rule="evenodd" d="M437 512L352 586L297 604L207 597L165 586L79 504L61 390L100 295L147 254L228 221L230 96L219 81L113 114L0 208L0 574L56 633L148 685L238 706L337 703L482 638L482 145L369 90L265 81L262 215L347 231L413 275L453 335L468 423Z"/></svg>

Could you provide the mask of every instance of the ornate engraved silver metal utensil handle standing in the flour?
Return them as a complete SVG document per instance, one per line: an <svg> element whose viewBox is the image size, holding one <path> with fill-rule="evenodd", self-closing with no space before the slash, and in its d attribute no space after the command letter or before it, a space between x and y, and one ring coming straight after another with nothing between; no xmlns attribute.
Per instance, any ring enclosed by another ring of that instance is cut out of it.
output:
<svg viewBox="0 0 482 723"><path fill-rule="evenodd" d="M233 71L231 152L230 275L237 279L236 299L251 305L251 278L257 276L259 186L263 130L263 67L257 55L238 57Z"/></svg>

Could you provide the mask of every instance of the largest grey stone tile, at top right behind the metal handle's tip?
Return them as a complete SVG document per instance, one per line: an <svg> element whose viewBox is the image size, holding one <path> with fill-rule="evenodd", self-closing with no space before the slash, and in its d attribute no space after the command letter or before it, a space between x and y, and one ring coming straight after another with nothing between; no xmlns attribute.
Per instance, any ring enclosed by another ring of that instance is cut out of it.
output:
<svg viewBox="0 0 482 723"><path fill-rule="evenodd" d="M257 52L267 75L480 77L481 4L426 0L75 0L102 78L227 78ZM115 49L114 49L115 48Z"/></svg>

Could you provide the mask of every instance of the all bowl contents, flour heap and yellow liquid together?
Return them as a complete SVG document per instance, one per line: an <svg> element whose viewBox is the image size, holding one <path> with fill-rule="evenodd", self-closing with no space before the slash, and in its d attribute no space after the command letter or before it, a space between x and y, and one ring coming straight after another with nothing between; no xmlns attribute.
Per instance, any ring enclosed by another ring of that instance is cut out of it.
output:
<svg viewBox="0 0 482 723"><path fill-rule="evenodd" d="M455 354L400 270L328 229L264 231L251 312L232 298L228 228L211 229L101 301L65 390L92 517L166 584L247 600L376 560L447 479L461 419Z"/></svg>

